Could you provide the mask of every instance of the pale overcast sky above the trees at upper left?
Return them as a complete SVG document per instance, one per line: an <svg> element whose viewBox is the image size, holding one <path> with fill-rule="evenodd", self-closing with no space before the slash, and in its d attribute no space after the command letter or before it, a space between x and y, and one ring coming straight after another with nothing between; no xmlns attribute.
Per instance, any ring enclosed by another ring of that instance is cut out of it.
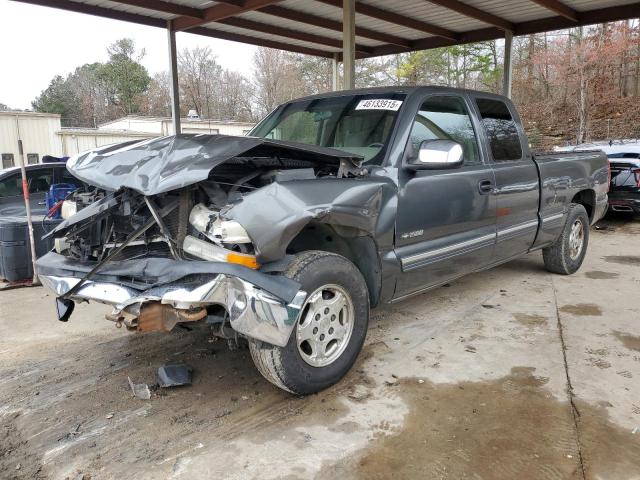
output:
<svg viewBox="0 0 640 480"><path fill-rule="evenodd" d="M128 37L144 48L149 74L168 70L166 31L54 8L0 0L0 103L31 108L31 101L55 75L85 63L108 60L107 46ZM179 50L209 46L224 68L251 75L255 47L188 33L178 33Z"/></svg>

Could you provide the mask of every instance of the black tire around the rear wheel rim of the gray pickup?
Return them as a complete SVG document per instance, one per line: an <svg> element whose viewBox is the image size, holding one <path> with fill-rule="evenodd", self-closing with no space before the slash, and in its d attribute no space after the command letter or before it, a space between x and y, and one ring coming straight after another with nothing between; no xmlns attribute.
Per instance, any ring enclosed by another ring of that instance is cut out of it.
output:
<svg viewBox="0 0 640 480"><path fill-rule="evenodd" d="M571 255L571 229L574 224L579 222L582 224L583 240L582 248L577 256ZM567 214L567 220L562 229L560 237L550 247L542 250L542 258L544 260L544 266L552 273L559 273L561 275L571 275L578 271L584 257L587 253L587 246L589 245L589 215L582 205L572 203L569 206L569 213Z"/></svg>

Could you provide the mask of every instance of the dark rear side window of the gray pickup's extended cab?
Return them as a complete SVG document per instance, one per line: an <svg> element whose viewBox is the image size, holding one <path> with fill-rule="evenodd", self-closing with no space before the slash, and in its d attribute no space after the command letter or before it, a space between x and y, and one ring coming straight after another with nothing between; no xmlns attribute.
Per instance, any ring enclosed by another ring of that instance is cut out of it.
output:
<svg viewBox="0 0 640 480"><path fill-rule="evenodd" d="M493 160L495 162L521 160L520 134L507 104L492 98L477 98L476 105Z"/></svg>

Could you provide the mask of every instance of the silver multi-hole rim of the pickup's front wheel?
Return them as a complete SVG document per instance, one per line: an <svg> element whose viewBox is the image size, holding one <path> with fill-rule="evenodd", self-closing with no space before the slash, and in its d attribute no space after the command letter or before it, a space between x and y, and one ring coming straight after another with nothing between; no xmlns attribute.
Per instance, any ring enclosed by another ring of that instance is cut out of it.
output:
<svg viewBox="0 0 640 480"><path fill-rule="evenodd" d="M302 306L296 343L302 359L313 367L326 367L344 352L354 324L353 302L339 285L324 285Z"/></svg>

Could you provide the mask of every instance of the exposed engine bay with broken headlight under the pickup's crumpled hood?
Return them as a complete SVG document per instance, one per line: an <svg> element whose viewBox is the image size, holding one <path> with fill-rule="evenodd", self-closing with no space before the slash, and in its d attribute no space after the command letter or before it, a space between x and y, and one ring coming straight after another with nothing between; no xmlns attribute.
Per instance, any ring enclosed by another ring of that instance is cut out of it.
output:
<svg viewBox="0 0 640 480"><path fill-rule="evenodd" d="M65 219L108 197L116 202L107 211L71 226L64 237L55 239L55 249L81 262L100 262L126 243L113 260L154 256L229 261L233 255L233 263L257 268L251 238L240 224L224 218L225 209L274 182L335 178L336 173L331 168L271 165L256 165L247 173L246 167L246 162L231 161L214 169L205 181L152 198L132 189L76 191L63 204ZM160 215L163 210L170 211ZM144 228L148 222L153 224ZM144 232L130 240L143 228Z"/></svg>

